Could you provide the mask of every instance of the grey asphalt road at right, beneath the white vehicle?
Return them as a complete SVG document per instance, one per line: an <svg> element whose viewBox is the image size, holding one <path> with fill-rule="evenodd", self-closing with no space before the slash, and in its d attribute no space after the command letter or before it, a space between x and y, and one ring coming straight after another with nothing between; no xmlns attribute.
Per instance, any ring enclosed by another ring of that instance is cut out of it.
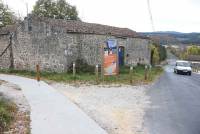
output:
<svg viewBox="0 0 200 134"><path fill-rule="evenodd" d="M149 134L200 134L200 74L173 73L169 60L165 73L147 91L151 107L146 111Z"/></svg>

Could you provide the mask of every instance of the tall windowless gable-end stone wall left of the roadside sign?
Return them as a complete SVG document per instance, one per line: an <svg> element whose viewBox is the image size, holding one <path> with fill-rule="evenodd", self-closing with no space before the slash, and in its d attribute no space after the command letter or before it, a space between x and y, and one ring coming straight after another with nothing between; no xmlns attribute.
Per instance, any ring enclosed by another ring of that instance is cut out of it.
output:
<svg viewBox="0 0 200 134"><path fill-rule="evenodd" d="M62 28L52 29L43 22L32 21L31 29L24 21L17 30L14 49L15 68L63 72L78 57L77 35L62 32Z"/></svg>

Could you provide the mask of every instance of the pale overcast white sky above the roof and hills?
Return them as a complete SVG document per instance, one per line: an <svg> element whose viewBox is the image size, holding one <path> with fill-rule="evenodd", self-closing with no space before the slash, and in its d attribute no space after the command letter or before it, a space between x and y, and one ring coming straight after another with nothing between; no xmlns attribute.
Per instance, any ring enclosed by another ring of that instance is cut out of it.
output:
<svg viewBox="0 0 200 134"><path fill-rule="evenodd" d="M3 0L16 15L26 16L36 0ZM67 0L82 21L137 32L152 32L147 0ZM155 31L200 32L200 0L150 0Z"/></svg>

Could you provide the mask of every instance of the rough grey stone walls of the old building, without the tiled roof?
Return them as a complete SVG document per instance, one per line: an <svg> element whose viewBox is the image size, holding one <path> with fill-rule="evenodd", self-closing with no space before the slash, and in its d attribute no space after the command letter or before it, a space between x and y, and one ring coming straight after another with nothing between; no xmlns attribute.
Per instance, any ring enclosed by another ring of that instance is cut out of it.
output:
<svg viewBox="0 0 200 134"><path fill-rule="evenodd" d="M14 67L35 70L39 64L43 71L64 72L78 58L90 65L101 64L101 45L105 45L108 39L116 39L118 46L125 47L126 65L150 63L147 39L69 33L62 25L25 19L13 39Z"/></svg>

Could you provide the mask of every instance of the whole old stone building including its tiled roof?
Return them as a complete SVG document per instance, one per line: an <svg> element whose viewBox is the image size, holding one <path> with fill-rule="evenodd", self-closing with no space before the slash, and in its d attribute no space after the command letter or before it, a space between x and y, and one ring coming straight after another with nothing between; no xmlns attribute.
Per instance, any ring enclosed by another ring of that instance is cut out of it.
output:
<svg viewBox="0 0 200 134"><path fill-rule="evenodd" d="M150 40L127 28L82 21L65 21L29 16L13 28L0 32L0 68L63 72L76 59L90 65L101 64L102 47L108 40L123 49L126 65L150 63ZM12 33L12 35L11 35ZM12 59L11 59L12 58Z"/></svg>

